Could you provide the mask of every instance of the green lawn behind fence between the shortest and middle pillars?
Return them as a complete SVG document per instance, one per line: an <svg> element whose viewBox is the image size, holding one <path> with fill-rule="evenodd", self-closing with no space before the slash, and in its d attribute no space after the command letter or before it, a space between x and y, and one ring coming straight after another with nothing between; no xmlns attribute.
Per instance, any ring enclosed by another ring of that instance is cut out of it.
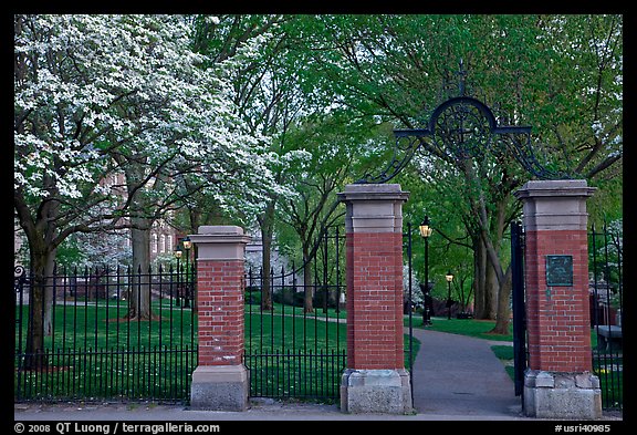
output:
<svg viewBox="0 0 637 435"><path fill-rule="evenodd" d="M294 397L335 403L346 367L345 314L330 310L303 313L300 308L275 305L261 312L247 307L246 363L251 372L251 395ZM404 335L405 366L410 367L410 342ZM414 358L420 342L411 342Z"/></svg>

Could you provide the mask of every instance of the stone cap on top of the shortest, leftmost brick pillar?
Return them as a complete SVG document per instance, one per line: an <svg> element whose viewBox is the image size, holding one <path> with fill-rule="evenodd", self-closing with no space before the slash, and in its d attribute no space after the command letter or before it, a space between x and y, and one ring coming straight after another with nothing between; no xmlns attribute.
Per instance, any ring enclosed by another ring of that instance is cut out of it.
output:
<svg viewBox="0 0 637 435"><path fill-rule="evenodd" d="M200 226L196 235L188 235L197 245L197 260L242 260L251 237L233 225Z"/></svg>

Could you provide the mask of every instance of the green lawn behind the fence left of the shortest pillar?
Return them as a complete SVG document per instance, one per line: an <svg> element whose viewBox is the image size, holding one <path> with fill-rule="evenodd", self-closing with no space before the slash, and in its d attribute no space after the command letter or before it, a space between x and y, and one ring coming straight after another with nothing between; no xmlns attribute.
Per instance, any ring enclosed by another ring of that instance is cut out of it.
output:
<svg viewBox="0 0 637 435"><path fill-rule="evenodd" d="M190 309L154 302L153 321L125 319L125 301L58 304L53 333L44 339L46 365L24 370L29 307L15 329L14 396L18 400L184 400L196 366L196 325Z"/></svg>

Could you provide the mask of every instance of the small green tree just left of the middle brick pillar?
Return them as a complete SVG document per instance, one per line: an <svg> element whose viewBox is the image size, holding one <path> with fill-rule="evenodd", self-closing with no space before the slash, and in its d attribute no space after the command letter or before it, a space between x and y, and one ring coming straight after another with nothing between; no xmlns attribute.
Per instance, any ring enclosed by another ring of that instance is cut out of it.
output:
<svg viewBox="0 0 637 435"><path fill-rule="evenodd" d="M374 137L375 130L353 120L344 110L309 116L289 134L289 144L305 149L309 158L290 174L297 195L280 205L280 220L293 229L294 237L286 235L282 226L279 234L283 251L293 258L297 258L295 249L301 251L297 259L303 266L303 282L310 289L305 292L305 312L314 310L311 261L316 258L327 227L341 224L344 216L336 194L358 172L358 148Z"/></svg>

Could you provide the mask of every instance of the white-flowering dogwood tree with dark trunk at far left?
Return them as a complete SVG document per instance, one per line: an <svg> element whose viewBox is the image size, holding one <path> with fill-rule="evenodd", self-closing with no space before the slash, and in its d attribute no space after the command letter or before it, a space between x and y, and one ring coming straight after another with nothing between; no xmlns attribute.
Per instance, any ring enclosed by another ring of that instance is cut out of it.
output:
<svg viewBox="0 0 637 435"><path fill-rule="evenodd" d="M192 189L222 199L237 174L233 191L259 186L247 200L275 188L265 139L237 116L223 65L200 68L191 28L180 15L14 17L14 209L34 277L28 367L45 363L46 277L71 234L144 229Z"/></svg>

